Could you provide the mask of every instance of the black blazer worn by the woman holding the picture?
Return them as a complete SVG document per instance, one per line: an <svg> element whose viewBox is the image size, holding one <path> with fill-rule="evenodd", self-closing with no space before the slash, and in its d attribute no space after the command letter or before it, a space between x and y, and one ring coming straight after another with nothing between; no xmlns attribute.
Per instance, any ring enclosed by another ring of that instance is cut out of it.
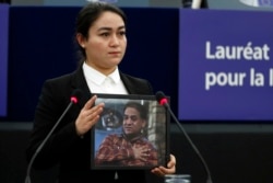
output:
<svg viewBox="0 0 273 183"><path fill-rule="evenodd" d="M121 72L120 77L130 94L153 94L153 89L149 81ZM83 91L82 99L66 114L36 157L33 167L36 169L49 169L55 164L59 164L59 183L117 182L114 181L116 171L91 170L91 133L85 134L84 138L80 138L75 133L75 118L92 93L83 76L82 67L79 67L72 73L45 81L35 111L33 131L26 150L27 160L29 161L36 148L61 116L75 89ZM147 182L145 174L150 175L151 173L143 170L118 171L118 182L145 183Z"/></svg>

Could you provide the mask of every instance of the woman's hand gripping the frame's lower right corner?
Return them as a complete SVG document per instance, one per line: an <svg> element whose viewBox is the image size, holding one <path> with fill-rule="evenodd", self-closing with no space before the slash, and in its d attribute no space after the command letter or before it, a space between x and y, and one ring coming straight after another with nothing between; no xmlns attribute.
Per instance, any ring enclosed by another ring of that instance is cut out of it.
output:
<svg viewBox="0 0 273 183"><path fill-rule="evenodd" d="M161 165L158 168L152 169L151 172L159 176L176 173L176 157L174 155L170 155L170 160L167 164L167 168Z"/></svg>

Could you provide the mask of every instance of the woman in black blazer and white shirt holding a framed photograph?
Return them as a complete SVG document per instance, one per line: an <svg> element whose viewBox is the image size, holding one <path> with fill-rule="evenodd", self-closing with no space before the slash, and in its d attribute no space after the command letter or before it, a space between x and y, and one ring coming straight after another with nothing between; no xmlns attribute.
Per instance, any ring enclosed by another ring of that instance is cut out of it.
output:
<svg viewBox="0 0 273 183"><path fill-rule="evenodd" d="M167 168L158 167L149 173L144 170L92 170L91 129L104 107L104 103L94 106L96 95L92 93L149 95L153 90L149 81L118 69L127 48L126 15L119 8L103 2L88 3L78 15L75 38L83 59L74 72L44 83L26 150L27 160L68 106L71 93L81 89L82 99L64 115L36 157L34 168L59 164L59 183L145 183L146 175L163 178L175 173L173 155Z"/></svg>

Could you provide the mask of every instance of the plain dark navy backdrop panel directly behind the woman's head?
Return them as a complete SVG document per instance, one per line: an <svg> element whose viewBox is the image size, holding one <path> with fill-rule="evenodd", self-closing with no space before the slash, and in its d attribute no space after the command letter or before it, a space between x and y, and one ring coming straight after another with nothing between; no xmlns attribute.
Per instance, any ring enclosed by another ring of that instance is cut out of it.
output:
<svg viewBox="0 0 273 183"><path fill-rule="evenodd" d="M74 22L80 7L10 7L8 116L33 121L43 82L78 64ZM123 8L128 50L123 72L146 78L177 113L178 9Z"/></svg>

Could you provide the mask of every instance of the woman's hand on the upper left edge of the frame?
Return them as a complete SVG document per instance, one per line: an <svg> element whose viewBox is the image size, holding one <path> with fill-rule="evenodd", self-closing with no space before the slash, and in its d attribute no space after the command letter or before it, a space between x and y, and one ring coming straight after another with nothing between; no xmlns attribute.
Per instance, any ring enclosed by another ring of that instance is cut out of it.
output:
<svg viewBox="0 0 273 183"><path fill-rule="evenodd" d="M94 105L97 95L93 95L81 110L76 121L75 129L79 136L83 136L87 133L99 119L100 113L104 110L104 103Z"/></svg>

